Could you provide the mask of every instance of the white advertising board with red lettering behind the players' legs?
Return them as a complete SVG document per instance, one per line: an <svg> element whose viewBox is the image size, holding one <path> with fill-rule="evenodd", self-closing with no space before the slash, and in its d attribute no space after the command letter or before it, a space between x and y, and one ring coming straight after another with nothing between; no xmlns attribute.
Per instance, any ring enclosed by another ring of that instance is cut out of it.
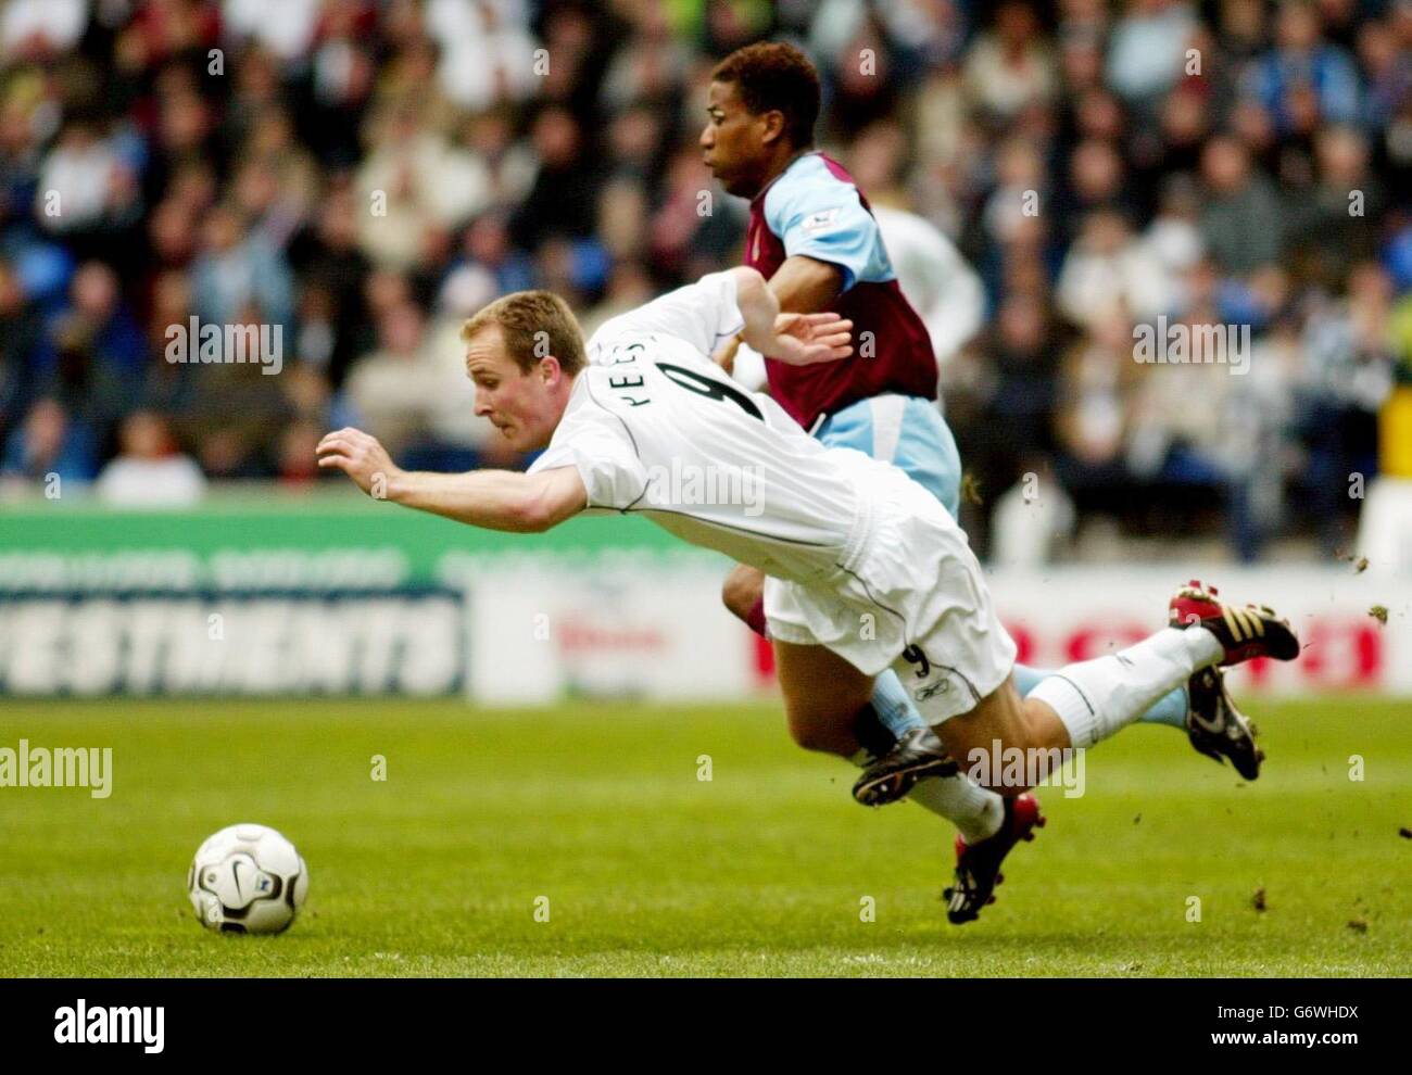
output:
<svg viewBox="0 0 1412 1075"><path fill-rule="evenodd" d="M566 694L730 701L772 684L768 646L720 604L719 563L576 567L545 563L477 573L469 588L467 691L480 704L541 704ZM1243 690L1370 690L1412 696L1412 583L1351 564L1055 567L993 573L991 593L1027 664L1053 669L1121 649L1165 624L1172 590L1200 577L1237 602L1288 617L1299 660L1237 669ZM1387 622L1371 614L1385 609Z"/></svg>

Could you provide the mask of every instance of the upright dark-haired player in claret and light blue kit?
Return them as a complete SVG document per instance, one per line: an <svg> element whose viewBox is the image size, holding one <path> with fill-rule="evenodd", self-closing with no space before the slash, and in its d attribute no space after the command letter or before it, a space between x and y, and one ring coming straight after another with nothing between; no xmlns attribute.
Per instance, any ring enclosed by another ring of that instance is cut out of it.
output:
<svg viewBox="0 0 1412 1075"><path fill-rule="evenodd" d="M902 293L867 198L849 172L813 145L820 87L813 65L785 44L757 44L726 56L712 72L700 148L731 195L750 199L746 264L758 269L784 310L833 310L853 322L854 354L837 363L794 367L765 358L770 395L805 430L830 446L854 447L894 463L957 516L960 454L938 402L936 360L922 319ZM717 360L730 368L738 340ZM762 574L737 566L726 605L764 635ZM1015 666L1028 694L1046 673ZM904 794L953 821L953 923L974 918L991 899L1000 863L1042 824L1034 796L1003 800L981 791L947 759L892 672L877 677L871 704L849 710L857 670L823 649L789 650L778 676L795 741L864 767L854 786L861 803ZM813 690L791 691L792 683ZM1142 721L1185 728L1197 751L1230 758L1255 779L1261 755L1250 722L1234 707L1219 669L1158 700ZM963 766L964 769L964 766Z"/></svg>

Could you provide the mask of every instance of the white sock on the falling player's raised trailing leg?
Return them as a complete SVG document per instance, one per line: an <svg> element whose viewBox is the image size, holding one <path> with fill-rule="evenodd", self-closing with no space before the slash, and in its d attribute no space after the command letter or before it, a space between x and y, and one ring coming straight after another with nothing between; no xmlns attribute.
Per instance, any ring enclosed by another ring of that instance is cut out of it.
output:
<svg viewBox="0 0 1412 1075"><path fill-rule="evenodd" d="M1223 652L1206 628L1163 628L1117 653L1066 664L1028 697L1059 714L1073 746L1089 748L1132 724L1197 669L1219 662Z"/></svg>

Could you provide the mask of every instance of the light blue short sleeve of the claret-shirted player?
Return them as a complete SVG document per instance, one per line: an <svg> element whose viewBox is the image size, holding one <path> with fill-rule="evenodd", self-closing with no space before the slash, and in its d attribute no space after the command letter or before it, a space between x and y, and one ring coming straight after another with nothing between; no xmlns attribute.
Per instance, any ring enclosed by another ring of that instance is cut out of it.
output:
<svg viewBox="0 0 1412 1075"><path fill-rule="evenodd" d="M877 220L857 188L832 176L777 183L765 195L765 224L779 236L786 257L837 265L844 291L870 277L882 250Z"/></svg>

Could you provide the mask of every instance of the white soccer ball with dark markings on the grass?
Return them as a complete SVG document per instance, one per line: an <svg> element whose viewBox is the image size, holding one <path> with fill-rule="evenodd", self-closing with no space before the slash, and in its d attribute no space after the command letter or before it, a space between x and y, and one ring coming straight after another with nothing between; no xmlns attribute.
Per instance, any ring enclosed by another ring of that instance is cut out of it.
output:
<svg viewBox="0 0 1412 1075"><path fill-rule="evenodd" d="M265 825L230 825L196 848L186 894L219 933L281 933L309 892L309 868L294 844Z"/></svg>

